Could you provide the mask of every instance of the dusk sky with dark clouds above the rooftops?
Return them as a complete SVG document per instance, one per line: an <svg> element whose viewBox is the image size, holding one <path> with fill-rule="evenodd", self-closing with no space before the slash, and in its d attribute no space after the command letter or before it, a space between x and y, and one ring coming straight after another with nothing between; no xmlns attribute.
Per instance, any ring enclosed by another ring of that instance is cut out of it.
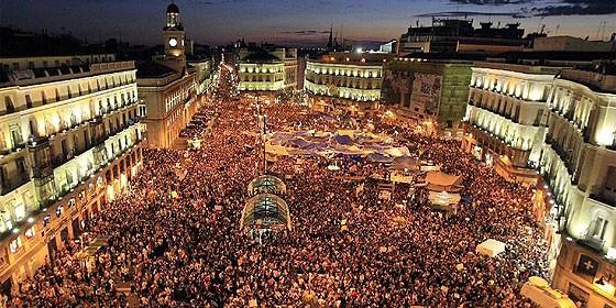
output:
<svg viewBox="0 0 616 308"><path fill-rule="evenodd" d="M352 41L397 38L430 15L520 22L526 33L546 24L550 35L608 38L616 32L616 0L177 0L187 37L198 43L251 42L322 45L330 24ZM0 0L0 25L70 32L90 42L119 37L162 43L170 0ZM605 21L605 28L603 22ZM597 31L600 30L601 31ZM605 30L603 30L605 29ZM597 36L598 32L598 36Z"/></svg>

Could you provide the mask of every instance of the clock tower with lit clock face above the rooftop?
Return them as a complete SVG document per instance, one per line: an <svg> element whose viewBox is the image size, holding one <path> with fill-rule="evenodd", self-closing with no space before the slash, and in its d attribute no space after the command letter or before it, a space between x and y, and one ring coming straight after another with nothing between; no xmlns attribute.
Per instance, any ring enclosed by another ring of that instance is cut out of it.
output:
<svg viewBox="0 0 616 308"><path fill-rule="evenodd" d="M163 37L165 40L165 58L168 61L186 59L185 55L185 32L182 21L179 20L179 9L175 3L167 7L167 21L163 29Z"/></svg>

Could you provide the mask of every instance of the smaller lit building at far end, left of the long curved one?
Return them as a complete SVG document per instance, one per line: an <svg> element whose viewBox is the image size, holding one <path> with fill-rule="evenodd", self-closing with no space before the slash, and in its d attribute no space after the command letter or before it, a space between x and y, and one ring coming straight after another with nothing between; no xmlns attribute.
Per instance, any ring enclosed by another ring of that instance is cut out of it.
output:
<svg viewBox="0 0 616 308"><path fill-rule="evenodd" d="M239 89L272 96L297 88L297 50L263 44L238 51Z"/></svg>

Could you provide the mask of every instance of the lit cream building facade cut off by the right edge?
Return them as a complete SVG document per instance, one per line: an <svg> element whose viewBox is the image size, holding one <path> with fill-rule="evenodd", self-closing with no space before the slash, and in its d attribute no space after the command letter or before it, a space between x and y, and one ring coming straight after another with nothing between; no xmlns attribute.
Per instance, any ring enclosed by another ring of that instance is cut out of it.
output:
<svg viewBox="0 0 616 308"><path fill-rule="evenodd" d="M563 69L548 98L539 172L552 285L582 307L616 307L615 73Z"/></svg>

